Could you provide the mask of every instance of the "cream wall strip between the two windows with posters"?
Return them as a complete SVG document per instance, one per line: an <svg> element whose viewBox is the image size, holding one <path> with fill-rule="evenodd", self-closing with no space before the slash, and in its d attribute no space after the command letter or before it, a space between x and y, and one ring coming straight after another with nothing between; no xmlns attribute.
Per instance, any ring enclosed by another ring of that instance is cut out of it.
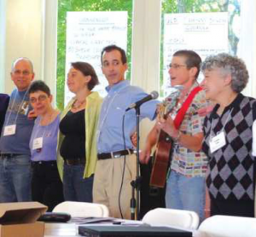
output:
<svg viewBox="0 0 256 237"><path fill-rule="evenodd" d="M133 2L132 71L131 84L148 93L160 89L160 16L161 1L139 0ZM154 122L143 120L141 148L148 130Z"/></svg>

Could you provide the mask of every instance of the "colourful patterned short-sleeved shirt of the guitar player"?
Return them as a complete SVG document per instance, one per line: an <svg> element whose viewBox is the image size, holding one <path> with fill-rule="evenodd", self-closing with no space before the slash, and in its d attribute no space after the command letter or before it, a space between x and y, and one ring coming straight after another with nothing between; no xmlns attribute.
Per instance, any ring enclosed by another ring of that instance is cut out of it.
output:
<svg viewBox="0 0 256 237"><path fill-rule="evenodd" d="M195 83L189 93L198 86ZM189 95L188 93L188 95ZM187 95L187 96L188 96ZM186 100L185 96L184 100ZM195 135L197 133L203 132L203 117L201 117L197 111L207 106L207 99L205 91L201 90L198 92L193 101L191 102L189 109L187 110L183 122L180 125L179 130L184 134ZM182 107L182 104L178 104L177 107L174 107L172 111L172 118L175 118L179 109ZM173 153L172 153L172 171L177 171L177 173L182 174L183 176L206 176L207 172L207 156L202 151L194 152L187 147L183 147L179 142L174 142L173 144Z"/></svg>

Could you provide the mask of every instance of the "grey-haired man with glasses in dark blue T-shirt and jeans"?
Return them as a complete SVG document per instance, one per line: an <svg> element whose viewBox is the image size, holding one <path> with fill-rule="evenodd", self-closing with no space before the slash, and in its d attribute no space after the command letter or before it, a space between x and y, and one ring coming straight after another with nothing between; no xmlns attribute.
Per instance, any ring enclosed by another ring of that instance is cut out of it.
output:
<svg viewBox="0 0 256 237"><path fill-rule="evenodd" d="M31 166L29 140L34 121L27 119L27 89L34 72L32 62L17 59L10 73L16 89L10 95L0 138L0 202L31 200Z"/></svg>

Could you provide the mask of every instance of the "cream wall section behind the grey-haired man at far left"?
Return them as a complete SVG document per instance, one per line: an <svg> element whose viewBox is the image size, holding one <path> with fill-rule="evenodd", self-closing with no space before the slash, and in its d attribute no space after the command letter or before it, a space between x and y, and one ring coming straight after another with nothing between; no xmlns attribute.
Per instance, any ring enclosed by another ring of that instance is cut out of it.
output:
<svg viewBox="0 0 256 237"><path fill-rule="evenodd" d="M5 2L1 13L6 16L1 34L5 48L2 91L10 93L15 85L9 77L11 64L18 57L32 60L37 79L42 79L43 55L43 0L1 0Z"/></svg>

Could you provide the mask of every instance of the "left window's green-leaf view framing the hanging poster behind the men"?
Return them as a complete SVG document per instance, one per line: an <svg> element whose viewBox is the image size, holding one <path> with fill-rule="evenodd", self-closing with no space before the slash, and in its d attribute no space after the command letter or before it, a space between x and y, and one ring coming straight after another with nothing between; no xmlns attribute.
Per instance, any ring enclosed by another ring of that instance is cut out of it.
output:
<svg viewBox="0 0 256 237"><path fill-rule="evenodd" d="M131 78L131 37L132 37L132 0L127 1L95 1L95 0L61 0L58 6L58 47L57 47L57 82L56 82L56 105L59 109L64 107L65 90L65 66L66 64L66 30L67 12L102 12L102 11L126 11L128 13L127 27L127 58L129 70L126 78ZM117 19L119 20L119 19ZM100 55L100 52L96 52ZM88 61L90 63L90 61ZM96 68L95 68L96 69ZM99 74L96 70L96 73Z"/></svg>

